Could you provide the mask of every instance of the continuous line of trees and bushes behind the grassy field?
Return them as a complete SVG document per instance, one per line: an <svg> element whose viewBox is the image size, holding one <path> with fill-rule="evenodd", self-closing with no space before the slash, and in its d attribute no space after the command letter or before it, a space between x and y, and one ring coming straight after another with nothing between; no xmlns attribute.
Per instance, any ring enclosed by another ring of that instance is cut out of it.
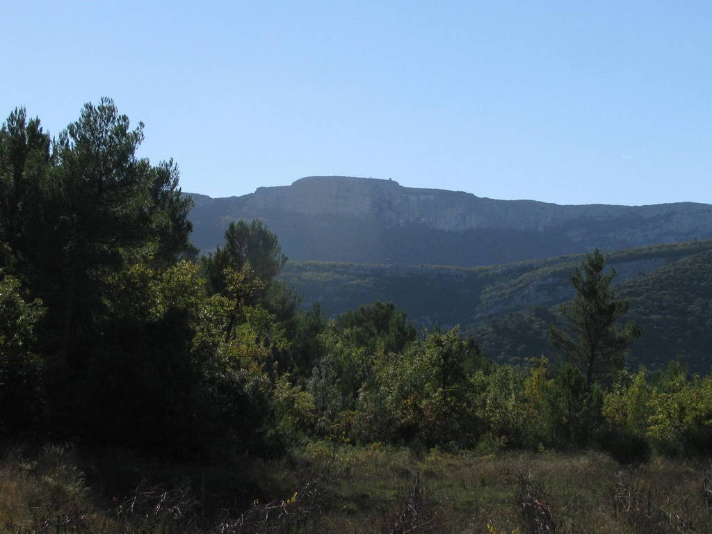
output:
<svg viewBox="0 0 712 534"><path fill-rule="evenodd" d="M597 253L552 332L562 358L496 365L389 303L300 310L258 221L197 258L177 166L137 157L141 141L108 99L55 139L23 109L1 128L4 436L206 458L315 439L709 454L712 378L625 370L639 331L619 326L627 303Z"/></svg>

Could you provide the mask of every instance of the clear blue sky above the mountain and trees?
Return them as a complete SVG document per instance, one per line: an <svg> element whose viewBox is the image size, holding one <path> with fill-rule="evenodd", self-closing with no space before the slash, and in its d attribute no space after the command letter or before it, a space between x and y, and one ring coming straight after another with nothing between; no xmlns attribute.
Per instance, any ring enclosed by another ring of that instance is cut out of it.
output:
<svg viewBox="0 0 712 534"><path fill-rule="evenodd" d="M0 113L106 95L212 197L315 174L558 204L712 203L702 1L0 3Z"/></svg>

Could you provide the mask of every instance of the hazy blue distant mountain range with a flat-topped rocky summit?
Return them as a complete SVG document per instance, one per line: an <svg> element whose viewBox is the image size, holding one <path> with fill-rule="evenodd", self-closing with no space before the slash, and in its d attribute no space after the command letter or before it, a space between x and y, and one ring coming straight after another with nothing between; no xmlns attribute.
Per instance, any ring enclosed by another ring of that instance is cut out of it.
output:
<svg viewBox="0 0 712 534"><path fill-rule="evenodd" d="M222 243L230 221L261 219L287 256L302 261L481 266L712 237L712 206L693 202L560 206L354 177L190 196L201 251Z"/></svg>

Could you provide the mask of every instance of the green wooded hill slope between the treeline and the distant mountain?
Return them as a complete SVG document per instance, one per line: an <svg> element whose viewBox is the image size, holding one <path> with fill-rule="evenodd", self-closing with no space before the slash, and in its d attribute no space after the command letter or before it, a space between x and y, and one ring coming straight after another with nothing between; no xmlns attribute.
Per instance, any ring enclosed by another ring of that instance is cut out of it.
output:
<svg viewBox="0 0 712 534"><path fill-rule="evenodd" d="M712 241L691 241L607 253L629 318L646 330L632 365L664 365L681 356L708 372L712 341ZM390 300L419 328L460 324L499 361L550 353L546 330L556 306L573 297L569 273L583 255L503 266L378 266L290 262L283 278L330 315Z"/></svg>

